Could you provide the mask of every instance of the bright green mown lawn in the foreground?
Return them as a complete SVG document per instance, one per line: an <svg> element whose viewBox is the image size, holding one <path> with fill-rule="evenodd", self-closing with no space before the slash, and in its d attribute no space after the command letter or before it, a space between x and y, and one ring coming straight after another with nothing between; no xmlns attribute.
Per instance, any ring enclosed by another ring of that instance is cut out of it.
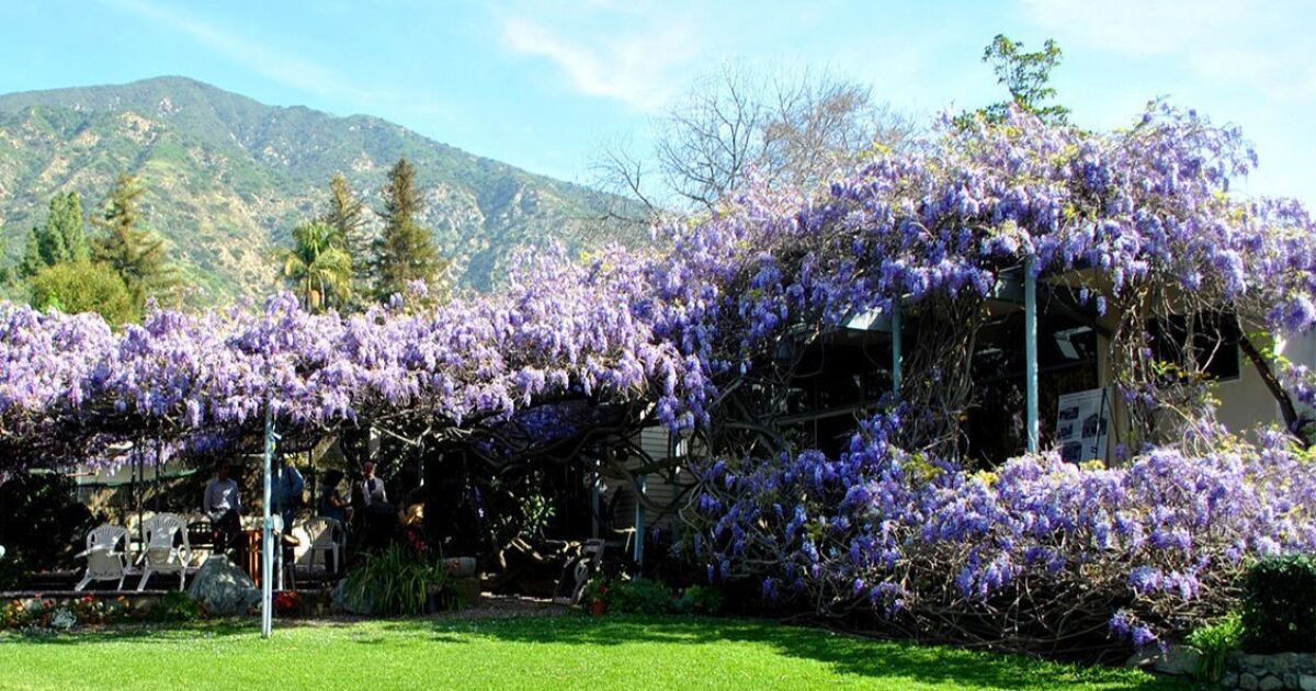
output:
<svg viewBox="0 0 1316 691"><path fill-rule="evenodd" d="M0 634L0 688L1180 688L1142 673L732 619L522 617Z"/></svg>

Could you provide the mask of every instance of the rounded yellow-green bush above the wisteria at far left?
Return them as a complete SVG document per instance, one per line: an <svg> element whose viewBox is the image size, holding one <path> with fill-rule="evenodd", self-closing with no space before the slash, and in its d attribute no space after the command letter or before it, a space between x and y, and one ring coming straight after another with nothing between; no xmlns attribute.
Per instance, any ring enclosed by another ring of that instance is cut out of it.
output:
<svg viewBox="0 0 1316 691"><path fill-rule="evenodd" d="M32 305L68 315L96 312L112 325L141 319L124 279L103 263L82 261L47 266L29 282Z"/></svg>

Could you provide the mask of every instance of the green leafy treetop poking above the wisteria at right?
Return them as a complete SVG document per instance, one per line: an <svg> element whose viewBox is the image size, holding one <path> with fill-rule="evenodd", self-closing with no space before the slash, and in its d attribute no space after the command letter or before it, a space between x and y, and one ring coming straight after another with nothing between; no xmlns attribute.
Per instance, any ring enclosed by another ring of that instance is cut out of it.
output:
<svg viewBox="0 0 1316 691"><path fill-rule="evenodd" d="M1055 41L1046 39L1042 50L1025 53L1024 43L998 34L983 50L983 62L991 64L996 82L1009 90L1011 100L988 105L982 113L991 122L1000 122L1011 104L1053 124L1065 124L1070 109L1063 105L1048 104L1055 97L1051 88L1051 70L1061 62L1061 47Z"/></svg>

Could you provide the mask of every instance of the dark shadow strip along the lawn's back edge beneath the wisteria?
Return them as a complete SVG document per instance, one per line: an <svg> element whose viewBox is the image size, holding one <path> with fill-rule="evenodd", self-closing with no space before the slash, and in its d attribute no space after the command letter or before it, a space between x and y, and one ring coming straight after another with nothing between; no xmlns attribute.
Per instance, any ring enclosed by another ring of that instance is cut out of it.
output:
<svg viewBox="0 0 1316 691"><path fill-rule="evenodd" d="M1080 667L1040 661L1024 655L965 650L913 642L876 641L838 634L817 628L783 625L766 620L717 617L647 617L605 616L520 616L507 619L395 619L395 620L324 620L280 621L280 630L296 629L312 634L315 629L349 633L343 642L380 645L395 640L470 645L471 642L505 641L517 644L553 644L603 650L626 644L713 645L720 642L754 644L776 654L812 659L828 665L834 673L924 683L949 683L970 687L1062 688L1087 684L1092 688L1192 688L1186 682L1112 670ZM255 620L217 620L200 624L121 625L92 632L59 636L22 636L21 641L37 645L82 645L95 642L128 642L151 645L171 640L222 638L255 636ZM3 642L3 641L0 641ZM3 646L0 646L3 649ZM583 650L580 654L586 654ZM734 654L734 653L729 653Z"/></svg>

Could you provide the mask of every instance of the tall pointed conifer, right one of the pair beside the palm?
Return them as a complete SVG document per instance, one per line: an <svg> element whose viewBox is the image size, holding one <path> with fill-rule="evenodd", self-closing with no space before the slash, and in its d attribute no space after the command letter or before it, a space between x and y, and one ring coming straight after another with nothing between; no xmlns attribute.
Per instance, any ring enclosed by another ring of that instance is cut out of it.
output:
<svg viewBox="0 0 1316 691"><path fill-rule="evenodd" d="M384 208L376 212L384 230L375 241L375 295L384 300L403 292L413 280L433 282L442 261L433 233L416 222L421 212L416 168L405 158L388 171L383 188Z"/></svg>

